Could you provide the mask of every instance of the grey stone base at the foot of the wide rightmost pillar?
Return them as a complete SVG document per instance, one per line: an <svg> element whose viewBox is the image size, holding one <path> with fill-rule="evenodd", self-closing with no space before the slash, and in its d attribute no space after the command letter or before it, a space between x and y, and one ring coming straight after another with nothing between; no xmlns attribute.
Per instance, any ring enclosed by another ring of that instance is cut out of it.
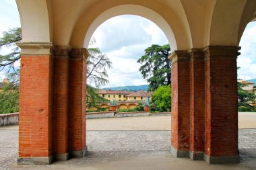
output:
<svg viewBox="0 0 256 170"><path fill-rule="evenodd" d="M210 157L209 155L204 154L203 159L209 164L240 163L239 156Z"/></svg>

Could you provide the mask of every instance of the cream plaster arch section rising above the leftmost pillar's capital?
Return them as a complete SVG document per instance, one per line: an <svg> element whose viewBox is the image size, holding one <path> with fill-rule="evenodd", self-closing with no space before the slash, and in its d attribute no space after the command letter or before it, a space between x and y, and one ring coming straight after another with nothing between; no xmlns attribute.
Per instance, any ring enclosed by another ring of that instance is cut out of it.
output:
<svg viewBox="0 0 256 170"><path fill-rule="evenodd" d="M52 42L53 24L49 1L17 0L23 42Z"/></svg>

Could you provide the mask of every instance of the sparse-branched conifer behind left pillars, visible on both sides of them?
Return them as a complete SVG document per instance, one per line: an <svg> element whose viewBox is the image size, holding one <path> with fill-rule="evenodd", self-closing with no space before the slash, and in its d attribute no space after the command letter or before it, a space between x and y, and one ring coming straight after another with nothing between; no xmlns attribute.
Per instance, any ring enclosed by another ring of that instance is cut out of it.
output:
<svg viewBox="0 0 256 170"><path fill-rule="evenodd" d="M20 70L14 67L15 62L20 61L20 48L15 45L15 42L22 40L21 28L13 28L8 32L3 32L3 37L0 38L0 48L11 48L11 52L8 54L0 55L0 71L5 69L7 77L11 79L11 83L5 88L3 93L0 94L1 107L5 108L6 112L13 112L11 108L15 108L15 112L18 112L18 101L19 101L19 82L20 82ZM95 42L94 39L91 41ZM100 85L108 83L108 74L106 67L110 68L112 62L106 54L102 54L99 48L88 48L90 56L87 60L87 80L88 83L92 83L97 88ZM15 79L14 79L15 78ZM106 100L98 95L98 89L87 85L87 101L88 105L96 106L96 103L101 100ZM15 99L15 101L13 101ZM0 107L0 113L1 113ZM11 107L11 108L10 108ZM8 111L9 110L9 111Z"/></svg>

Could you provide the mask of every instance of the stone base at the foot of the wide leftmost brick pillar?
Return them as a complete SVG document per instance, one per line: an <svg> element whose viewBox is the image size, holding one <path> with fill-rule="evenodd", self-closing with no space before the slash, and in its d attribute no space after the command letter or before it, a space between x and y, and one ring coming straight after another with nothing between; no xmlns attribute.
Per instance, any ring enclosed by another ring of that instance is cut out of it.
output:
<svg viewBox="0 0 256 170"><path fill-rule="evenodd" d="M19 157L18 165L49 165L53 162L53 155L50 157Z"/></svg>

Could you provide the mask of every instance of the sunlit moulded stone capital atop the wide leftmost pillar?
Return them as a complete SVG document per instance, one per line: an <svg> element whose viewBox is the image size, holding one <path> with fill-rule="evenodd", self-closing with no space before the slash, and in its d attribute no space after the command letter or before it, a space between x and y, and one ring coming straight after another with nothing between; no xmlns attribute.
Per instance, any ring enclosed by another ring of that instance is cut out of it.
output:
<svg viewBox="0 0 256 170"><path fill-rule="evenodd" d="M52 42L17 42L22 56L49 56L53 53Z"/></svg>

